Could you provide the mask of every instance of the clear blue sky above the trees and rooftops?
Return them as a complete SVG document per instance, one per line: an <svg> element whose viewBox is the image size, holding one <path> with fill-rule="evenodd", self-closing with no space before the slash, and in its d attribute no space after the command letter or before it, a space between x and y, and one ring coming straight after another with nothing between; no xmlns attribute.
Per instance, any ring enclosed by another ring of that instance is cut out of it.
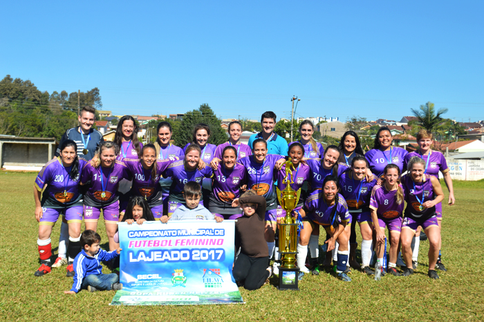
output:
<svg viewBox="0 0 484 322"><path fill-rule="evenodd" d="M5 2L5 1L4 1ZM0 76L114 114L484 120L483 1L8 1Z"/></svg>

